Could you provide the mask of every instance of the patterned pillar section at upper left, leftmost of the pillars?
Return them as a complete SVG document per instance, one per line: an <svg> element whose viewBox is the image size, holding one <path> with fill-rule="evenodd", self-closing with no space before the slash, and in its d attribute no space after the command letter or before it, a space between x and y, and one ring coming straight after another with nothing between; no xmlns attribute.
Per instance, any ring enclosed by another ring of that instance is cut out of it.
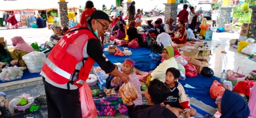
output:
<svg viewBox="0 0 256 118"><path fill-rule="evenodd" d="M63 2L64 1L64 2ZM58 2L59 8L58 8L58 13L59 13L59 18L60 18L60 24L63 25L64 27L69 27L68 26L68 16L67 16L67 3L65 0L60 0Z"/></svg>

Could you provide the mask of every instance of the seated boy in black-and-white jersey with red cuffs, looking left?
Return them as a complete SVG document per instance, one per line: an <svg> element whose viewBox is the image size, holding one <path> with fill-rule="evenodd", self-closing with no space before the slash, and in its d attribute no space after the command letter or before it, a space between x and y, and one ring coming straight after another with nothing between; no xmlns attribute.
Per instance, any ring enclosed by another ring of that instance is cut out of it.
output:
<svg viewBox="0 0 256 118"><path fill-rule="evenodd" d="M185 94L185 90L181 83L177 80L180 77L180 71L176 68L168 68L166 71L165 82L169 85L171 94L167 97L167 101L161 105L167 108L174 108L181 112L185 112L185 117L190 118L196 115L196 110L191 108L189 99Z"/></svg>

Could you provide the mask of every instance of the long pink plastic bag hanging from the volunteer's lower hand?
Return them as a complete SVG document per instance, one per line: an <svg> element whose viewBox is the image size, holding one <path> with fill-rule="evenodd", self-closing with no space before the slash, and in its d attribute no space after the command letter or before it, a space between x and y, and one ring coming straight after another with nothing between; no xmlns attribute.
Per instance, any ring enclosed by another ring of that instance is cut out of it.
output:
<svg viewBox="0 0 256 118"><path fill-rule="evenodd" d="M97 110L94 104L91 89L87 83L79 89L82 109L82 118L97 118Z"/></svg>

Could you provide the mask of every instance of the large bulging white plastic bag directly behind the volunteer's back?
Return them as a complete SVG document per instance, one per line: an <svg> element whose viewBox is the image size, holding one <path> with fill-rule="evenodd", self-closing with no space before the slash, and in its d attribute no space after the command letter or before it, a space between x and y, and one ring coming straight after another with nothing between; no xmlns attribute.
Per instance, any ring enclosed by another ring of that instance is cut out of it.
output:
<svg viewBox="0 0 256 118"><path fill-rule="evenodd" d="M46 55L45 53L34 51L22 56L22 59L28 66L30 73L38 73L42 71L42 65L44 64Z"/></svg>

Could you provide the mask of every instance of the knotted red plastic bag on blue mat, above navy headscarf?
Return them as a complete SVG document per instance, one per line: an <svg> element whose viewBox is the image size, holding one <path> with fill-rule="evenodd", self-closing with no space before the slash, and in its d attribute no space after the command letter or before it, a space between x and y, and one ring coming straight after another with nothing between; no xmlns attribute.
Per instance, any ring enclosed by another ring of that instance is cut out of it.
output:
<svg viewBox="0 0 256 118"><path fill-rule="evenodd" d="M225 88L222 84L220 84L218 81L214 80L211 88L210 88L210 96L213 99L216 99L219 94L223 94L225 91Z"/></svg>

